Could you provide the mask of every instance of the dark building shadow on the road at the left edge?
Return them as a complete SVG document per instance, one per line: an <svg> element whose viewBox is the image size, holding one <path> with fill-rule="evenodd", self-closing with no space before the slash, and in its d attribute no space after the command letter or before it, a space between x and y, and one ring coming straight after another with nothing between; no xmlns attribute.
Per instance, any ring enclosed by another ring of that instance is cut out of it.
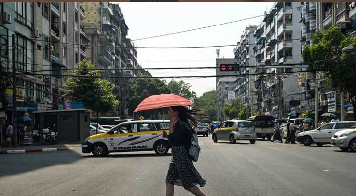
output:
<svg viewBox="0 0 356 196"><path fill-rule="evenodd" d="M0 178L41 168L70 164L81 156L72 150L0 155Z"/></svg>

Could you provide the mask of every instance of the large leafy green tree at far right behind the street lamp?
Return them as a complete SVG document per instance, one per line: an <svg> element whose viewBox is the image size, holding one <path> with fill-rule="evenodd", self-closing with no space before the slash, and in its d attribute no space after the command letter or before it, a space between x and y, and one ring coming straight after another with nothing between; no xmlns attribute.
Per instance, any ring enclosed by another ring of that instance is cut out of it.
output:
<svg viewBox="0 0 356 196"><path fill-rule="evenodd" d="M352 46L347 53L342 48ZM332 26L325 32L316 31L312 45L305 45L302 57L310 65L311 71L325 70L331 86L339 91L348 92L354 106L356 119L356 37L345 37L339 26ZM329 60L325 60L329 59Z"/></svg>

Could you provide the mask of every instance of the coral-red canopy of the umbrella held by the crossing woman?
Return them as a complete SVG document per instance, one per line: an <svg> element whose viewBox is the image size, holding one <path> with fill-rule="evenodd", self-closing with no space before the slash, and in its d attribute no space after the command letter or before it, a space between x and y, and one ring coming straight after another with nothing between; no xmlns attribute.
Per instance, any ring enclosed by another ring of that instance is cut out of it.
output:
<svg viewBox="0 0 356 196"><path fill-rule="evenodd" d="M137 106L134 112L158 109L170 106L192 106L193 103L183 98L179 95L174 94L161 94L161 95L151 95L148 98L143 99L141 103Z"/></svg>

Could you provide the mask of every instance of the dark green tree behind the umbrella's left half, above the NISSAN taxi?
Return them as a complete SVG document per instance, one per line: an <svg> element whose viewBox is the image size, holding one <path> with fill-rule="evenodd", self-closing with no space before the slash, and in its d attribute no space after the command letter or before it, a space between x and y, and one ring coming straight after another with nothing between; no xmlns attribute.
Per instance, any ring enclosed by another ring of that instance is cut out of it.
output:
<svg viewBox="0 0 356 196"><path fill-rule="evenodd" d="M140 76L137 75L137 76ZM165 80L152 79L130 79L129 81L129 113L132 114L137 105L145 98L151 95L169 94ZM148 110L140 112L144 117L152 116L157 118L160 111Z"/></svg>

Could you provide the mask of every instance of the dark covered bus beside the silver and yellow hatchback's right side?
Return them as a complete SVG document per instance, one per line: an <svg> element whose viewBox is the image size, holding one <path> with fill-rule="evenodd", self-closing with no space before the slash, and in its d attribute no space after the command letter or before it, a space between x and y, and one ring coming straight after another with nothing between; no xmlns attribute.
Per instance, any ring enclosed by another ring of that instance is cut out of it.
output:
<svg viewBox="0 0 356 196"><path fill-rule="evenodd" d="M255 125L257 138L271 140L274 134L274 116L257 115L248 118Z"/></svg>

